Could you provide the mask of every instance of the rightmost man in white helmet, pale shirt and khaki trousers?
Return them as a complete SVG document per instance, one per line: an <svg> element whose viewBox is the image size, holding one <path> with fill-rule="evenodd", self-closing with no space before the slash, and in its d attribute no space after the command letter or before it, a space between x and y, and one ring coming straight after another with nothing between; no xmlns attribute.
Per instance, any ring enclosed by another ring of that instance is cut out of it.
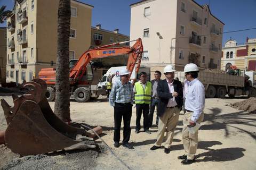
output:
<svg viewBox="0 0 256 170"><path fill-rule="evenodd" d="M188 126L194 127L196 123L201 123L204 119L205 91L204 85L197 79L199 69L196 64L189 63L185 66L184 72L189 81L188 91L185 95L186 113L183 117L182 142L185 154L179 156L182 164L195 162L195 154L198 144L198 130L192 134L188 132Z"/></svg>

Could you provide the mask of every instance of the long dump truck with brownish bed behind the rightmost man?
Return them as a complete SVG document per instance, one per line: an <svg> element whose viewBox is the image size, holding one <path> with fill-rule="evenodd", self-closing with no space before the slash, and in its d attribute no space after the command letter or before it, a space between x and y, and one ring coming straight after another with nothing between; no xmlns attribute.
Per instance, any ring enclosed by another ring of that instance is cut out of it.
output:
<svg viewBox="0 0 256 170"><path fill-rule="evenodd" d="M209 71L199 72L198 80L204 84L206 98L225 98L226 95L229 97L241 95L256 97L256 73L248 71L244 74L250 77L250 86L245 82L244 76ZM182 83L186 79L183 72L175 72L175 77L178 77Z"/></svg>

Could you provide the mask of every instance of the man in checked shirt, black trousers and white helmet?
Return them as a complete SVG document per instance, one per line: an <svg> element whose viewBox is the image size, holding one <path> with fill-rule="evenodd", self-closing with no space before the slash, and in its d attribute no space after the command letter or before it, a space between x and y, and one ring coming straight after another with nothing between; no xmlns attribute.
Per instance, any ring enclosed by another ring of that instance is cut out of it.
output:
<svg viewBox="0 0 256 170"><path fill-rule="evenodd" d="M109 95L109 103L114 106L114 146L119 147L120 130L122 117L124 120L124 138L123 147L134 149L129 142L131 135L131 117L132 117L132 104L134 99L133 86L129 82L129 75L131 73L127 69L119 71L121 80L116 80Z"/></svg>

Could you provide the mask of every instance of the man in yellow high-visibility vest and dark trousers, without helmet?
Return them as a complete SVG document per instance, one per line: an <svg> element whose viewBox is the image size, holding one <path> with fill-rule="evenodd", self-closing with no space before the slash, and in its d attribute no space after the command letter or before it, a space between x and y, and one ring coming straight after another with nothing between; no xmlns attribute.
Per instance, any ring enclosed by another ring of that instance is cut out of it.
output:
<svg viewBox="0 0 256 170"><path fill-rule="evenodd" d="M140 118L143 112L143 129L144 132L151 134L149 131L148 113L151 100L151 83L147 81L147 73L140 73L140 81L134 85L135 104L136 104L136 129L135 133L140 131Z"/></svg>

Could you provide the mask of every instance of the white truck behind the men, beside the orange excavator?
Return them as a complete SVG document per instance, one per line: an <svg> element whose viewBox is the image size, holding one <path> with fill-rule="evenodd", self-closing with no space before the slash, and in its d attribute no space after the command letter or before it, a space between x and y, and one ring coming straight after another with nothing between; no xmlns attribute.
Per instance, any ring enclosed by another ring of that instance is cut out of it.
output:
<svg viewBox="0 0 256 170"><path fill-rule="evenodd" d="M107 95L107 83L109 82L109 76L115 74L115 76L112 78L112 83L114 84L116 80L120 80L119 77L119 71L121 69L125 69L126 66L119 66L119 67L111 67L106 74L103 75L103 77L101 78L101 80L99 81L99 83L97 84L97 94L106 96ZM148 80L150 80L150 67L147 66L140 66L139 68L139 72L137 75L135 75L135 69L133 69L130 81L132 81L133 79L139 79L139 75L141 72L146 72L148 75ZM101 90L104 89L104 90Z"/></svg>

